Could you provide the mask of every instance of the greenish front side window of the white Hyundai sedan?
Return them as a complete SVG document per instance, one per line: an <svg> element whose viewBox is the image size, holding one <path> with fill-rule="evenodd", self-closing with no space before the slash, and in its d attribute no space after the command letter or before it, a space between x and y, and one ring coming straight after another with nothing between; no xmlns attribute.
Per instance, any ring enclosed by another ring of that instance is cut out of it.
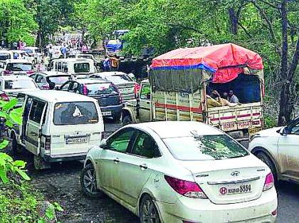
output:
<svg viewBox="0 0 299 223"><path fill-rule="evenodd" d="M107 149L115 150L117 152L126 152L133 134L133 129L126 128L120 131L120 133L113 135L107 142Z"/></svg>

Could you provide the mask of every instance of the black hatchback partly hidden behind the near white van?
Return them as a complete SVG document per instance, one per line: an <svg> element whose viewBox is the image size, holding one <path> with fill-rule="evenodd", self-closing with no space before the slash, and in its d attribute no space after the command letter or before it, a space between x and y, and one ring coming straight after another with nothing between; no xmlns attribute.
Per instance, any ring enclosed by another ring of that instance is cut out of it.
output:
<svg viewBox="0 0 299 223"><path fill-rule="evenodd" d="M65 82L60 90L93 97L98 100L104 117L112 117L115 121L120 120L122 97L113 83L99 79L80 78Z"/></svg>

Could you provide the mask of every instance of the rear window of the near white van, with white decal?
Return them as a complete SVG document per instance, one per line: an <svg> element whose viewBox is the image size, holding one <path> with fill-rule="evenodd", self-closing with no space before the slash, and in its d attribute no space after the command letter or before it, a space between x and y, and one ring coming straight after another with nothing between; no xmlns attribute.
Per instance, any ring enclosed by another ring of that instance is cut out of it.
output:
<svg viewBox="0 0 299 223"><path fill-rule="evenodd" d="M80 125L98 123L95 103L65 102L56 103L54 108L54 125Z"/></svg>

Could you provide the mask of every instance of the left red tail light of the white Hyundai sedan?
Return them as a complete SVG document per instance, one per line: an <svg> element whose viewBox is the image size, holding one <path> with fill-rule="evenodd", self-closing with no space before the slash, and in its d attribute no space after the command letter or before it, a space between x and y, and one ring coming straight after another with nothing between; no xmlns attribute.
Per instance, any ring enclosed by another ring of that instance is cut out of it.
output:
<svg viewBox="0 0 299 223"><path fill-rule="evenodd" d="M180 195L192 198L208 198L204 194L204 191L201 190L199 185L196 184L196 182L179 180L177 178L169 177L167 175L164 175L164 178L170 185L170 187L172 187L172 189L178 192Z"/></svg>

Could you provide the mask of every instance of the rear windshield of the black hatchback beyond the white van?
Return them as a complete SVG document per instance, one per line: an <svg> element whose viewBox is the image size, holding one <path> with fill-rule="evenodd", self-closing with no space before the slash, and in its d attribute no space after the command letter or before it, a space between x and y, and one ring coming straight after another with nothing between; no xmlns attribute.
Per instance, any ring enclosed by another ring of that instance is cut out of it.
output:
<svg viewBox="0 0 299 223"><path fill-rule="evenodd" d="M117 94L117 88L112 83L88 83L84 85L85 95Z"/></svg>

